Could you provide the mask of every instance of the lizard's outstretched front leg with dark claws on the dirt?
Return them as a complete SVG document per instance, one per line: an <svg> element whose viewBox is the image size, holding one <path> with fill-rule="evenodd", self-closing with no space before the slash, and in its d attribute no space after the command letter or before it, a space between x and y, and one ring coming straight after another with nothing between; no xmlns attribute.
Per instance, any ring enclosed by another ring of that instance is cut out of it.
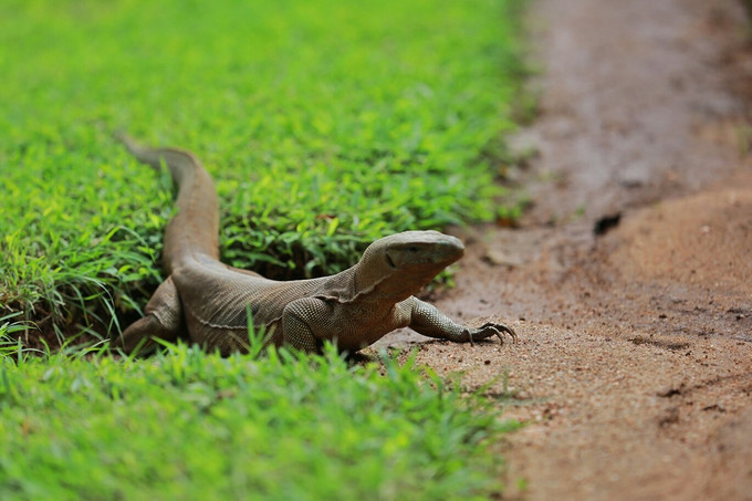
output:
<svg viewBox="0 0 752 501"><path fill-rule="evenodd" d="M504 344L504 333L506 333L513 342L518 341L514 330L504 324L489 322L476 328L466 327L417 298L409 298L403 305L410 311L408 326L425 336L449 340L456 343L470 342L471 344L473 341L497 336Z"/></svg>

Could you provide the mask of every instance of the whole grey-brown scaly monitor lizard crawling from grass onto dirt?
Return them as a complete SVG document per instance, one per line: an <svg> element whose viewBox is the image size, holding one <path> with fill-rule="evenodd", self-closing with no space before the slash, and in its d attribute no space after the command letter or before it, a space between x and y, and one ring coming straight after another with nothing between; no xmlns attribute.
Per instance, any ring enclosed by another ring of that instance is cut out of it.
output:
<svg viewBox="0 0 752 501"><path fill-rule="evenodd" d="M189 152L144 148L119 136L138 160L169 168L178 186L177 213L165 230L164 267L168 274L146 305L146 316L125 330L114 346L148 354L154 338L188 337L227 355L248 348L247 311L265 327L268 343L306 352L331 340L356 352L398 327L455 342L503 333L503 324L469 328L452 322L412 294L450 263L464 247L437 231L406 231L372 243L354 267L332 276L279 282L219 261L219 206L211 177Z"/></svg>

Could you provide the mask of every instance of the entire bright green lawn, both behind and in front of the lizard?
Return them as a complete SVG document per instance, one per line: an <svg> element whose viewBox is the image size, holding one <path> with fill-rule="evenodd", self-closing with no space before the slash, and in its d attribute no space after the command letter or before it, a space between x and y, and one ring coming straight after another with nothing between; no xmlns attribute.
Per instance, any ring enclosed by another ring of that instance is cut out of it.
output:
<svg viewBox="0 0 752 501"><path fill-rule="evenodd" d="M497 495L514 425L409 361L75 345L117 332L163 278L170 181L118 129L196 152L223 259L274 278L516 213L494 173L528 107L520 7L0 2L0 499Z"/></svg>

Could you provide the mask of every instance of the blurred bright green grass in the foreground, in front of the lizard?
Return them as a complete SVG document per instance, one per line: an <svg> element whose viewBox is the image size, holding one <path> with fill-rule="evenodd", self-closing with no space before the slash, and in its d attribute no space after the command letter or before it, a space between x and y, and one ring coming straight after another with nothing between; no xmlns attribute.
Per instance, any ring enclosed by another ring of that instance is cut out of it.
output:
<svg viewBox="0 0 752 501"><path fill-rule="evenodd" d="M3 500L488 499L518 426L411 361L6 353Z"/></svg>

